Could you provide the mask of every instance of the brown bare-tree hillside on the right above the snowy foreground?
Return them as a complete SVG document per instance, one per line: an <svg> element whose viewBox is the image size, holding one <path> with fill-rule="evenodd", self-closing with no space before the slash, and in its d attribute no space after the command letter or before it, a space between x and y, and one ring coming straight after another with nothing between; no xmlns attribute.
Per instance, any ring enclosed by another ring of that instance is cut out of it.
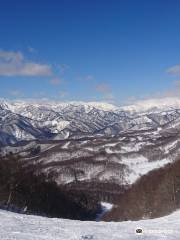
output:
<svg viewBox="0 0 180 240"><path fill-rule="evenodd" d="M180 159L142 176L120 196L106 221L162 217L180 208Z"/></svg>

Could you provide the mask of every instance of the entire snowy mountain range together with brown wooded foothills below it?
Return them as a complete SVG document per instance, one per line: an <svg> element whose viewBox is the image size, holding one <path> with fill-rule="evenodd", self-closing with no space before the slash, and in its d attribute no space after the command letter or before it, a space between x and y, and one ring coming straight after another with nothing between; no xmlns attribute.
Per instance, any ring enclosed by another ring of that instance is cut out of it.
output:
<svg viewBox="0 0 180 240"><path fill-rule="evenodd" d="M38 159L44 171L58 173L59 183L75 181L76 170L80 181L132 184L179 156L180 100L128 107L1 100L0 133L3 154ZM41 152L34 156L37 146Z"/></svg>

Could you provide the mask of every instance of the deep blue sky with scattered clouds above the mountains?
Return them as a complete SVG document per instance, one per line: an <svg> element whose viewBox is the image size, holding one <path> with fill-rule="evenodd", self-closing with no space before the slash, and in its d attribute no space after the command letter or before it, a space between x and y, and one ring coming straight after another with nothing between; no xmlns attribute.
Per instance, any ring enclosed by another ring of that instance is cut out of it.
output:
<svg viewBox="0 0 180 240"><path fill-rule="evenodd" d="M0 2L0 97L179 95L179 0Z"/></svg>

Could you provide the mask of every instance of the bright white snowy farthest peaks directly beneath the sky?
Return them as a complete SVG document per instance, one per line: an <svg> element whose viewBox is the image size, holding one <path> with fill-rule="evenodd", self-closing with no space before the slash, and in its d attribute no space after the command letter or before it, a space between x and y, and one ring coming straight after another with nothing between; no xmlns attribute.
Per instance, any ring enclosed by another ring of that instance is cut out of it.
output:
<svg viewBox="0 0 180 240"><path fill-rule="evenodd" d="M27 100L6 100L0 99L0 106L9 108L11 111L15 111L17 108L33 105L35 107L46 106L52 109L66 108L68 106L84 106L88 111L90 108L97 108L104 111L128 111L128 112L146 112L146 111L158 111L168 110L174 108L180 108L180 98L178 97L164 97L164 98L151 98L145 100L137 100L133 104L119 105L111 104L102 101L56 101L49 99L27 99Z"/></svg>

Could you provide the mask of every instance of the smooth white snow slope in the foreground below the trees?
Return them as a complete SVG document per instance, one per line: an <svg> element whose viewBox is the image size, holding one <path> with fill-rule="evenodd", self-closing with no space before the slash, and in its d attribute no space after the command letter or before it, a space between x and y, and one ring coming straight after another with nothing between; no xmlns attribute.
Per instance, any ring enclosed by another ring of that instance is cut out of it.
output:
<svg viewBox="0 0 180 240"><path fill-rule="evenodd" d="M136 229L142 229L137 234ZM162 218L135 222L81 222L20 215L0 210L1 240L180 239L180 210Z"/></svg>

